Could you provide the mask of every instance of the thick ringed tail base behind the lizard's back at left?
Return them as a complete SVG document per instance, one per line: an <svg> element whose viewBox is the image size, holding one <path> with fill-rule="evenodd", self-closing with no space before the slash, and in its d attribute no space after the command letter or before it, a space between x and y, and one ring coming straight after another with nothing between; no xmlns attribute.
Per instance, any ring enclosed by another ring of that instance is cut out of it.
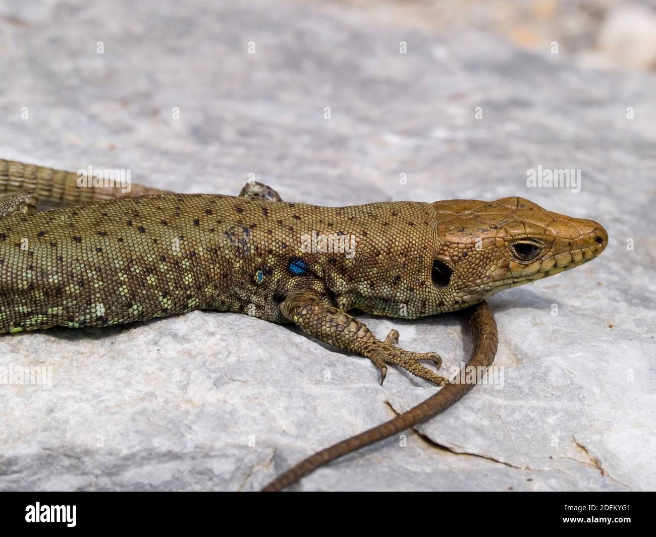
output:
<svg viewBox="0 0 656 537"><path fill-rule="evenodd" d="M75 172L53 170L0 159L0 193L16 190L34 191L43 201L55 205L81 205L96 199L115 199L169 191L130 184L129 191L116 186L79 186Z"/></svg>

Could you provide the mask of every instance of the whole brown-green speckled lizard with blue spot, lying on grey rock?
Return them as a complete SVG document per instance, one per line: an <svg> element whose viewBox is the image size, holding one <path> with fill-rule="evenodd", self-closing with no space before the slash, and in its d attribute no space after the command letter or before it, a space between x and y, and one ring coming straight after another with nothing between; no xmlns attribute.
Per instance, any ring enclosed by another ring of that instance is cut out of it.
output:
<svg viewBox="0 0 656 537"><path fill-rule="evenodd" d="M61 205L37 212L39 201ZM104 327L214 309L293 323L367 357L384 381L396 365L440 386L393 420L314 454L263 490L441 412L471 384L449 382L434 352L379 340L348 311L417 319L464 309L468 365L489 366L498 334L485 300L577 267L605 249L598 222L522 197L288 203L249 183L238 197L133 185L80 186L74 172L0 160L0 334Z"/></svg>

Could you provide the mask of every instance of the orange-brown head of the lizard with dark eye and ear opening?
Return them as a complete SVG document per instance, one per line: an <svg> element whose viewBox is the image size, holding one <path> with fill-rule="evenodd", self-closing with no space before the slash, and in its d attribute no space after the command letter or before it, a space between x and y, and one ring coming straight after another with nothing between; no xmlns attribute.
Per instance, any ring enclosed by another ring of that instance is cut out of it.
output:
<svg viewBox="0 0 656 537"><path fill-rule="evenodd" d="M608 244L597 222L550 212L521 197L436 201L433 208L440 245L432 281L461 307L577 267Z"/></svg>

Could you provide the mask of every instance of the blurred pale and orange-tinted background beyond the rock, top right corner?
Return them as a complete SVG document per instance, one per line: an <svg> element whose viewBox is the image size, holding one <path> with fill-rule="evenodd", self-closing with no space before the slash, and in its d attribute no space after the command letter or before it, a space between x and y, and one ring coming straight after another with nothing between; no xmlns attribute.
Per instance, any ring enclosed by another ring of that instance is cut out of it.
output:
<svg viewBox="0 0 656 537"><path fill-rule="evenodd" d="M540 53L552 41L582 67L656 68L656 4L649 0L346 0L391 24L426 31L474 28Z"/></svg>

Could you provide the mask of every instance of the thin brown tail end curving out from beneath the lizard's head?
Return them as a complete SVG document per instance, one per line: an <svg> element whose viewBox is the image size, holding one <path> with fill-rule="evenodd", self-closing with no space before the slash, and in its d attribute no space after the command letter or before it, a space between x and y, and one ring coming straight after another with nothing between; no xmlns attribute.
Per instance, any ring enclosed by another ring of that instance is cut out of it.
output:
<svg viewBox="0 0 656 537"><path fill-rule="evenodd" d="M474 342L467 366L489 367L494 361L499 343L499 334L497 333L497 323L494 320L494 315L486 302L472 306L466 310L466 314L469 318ZM478 375L476 377L478 378ZM419 405L407 412L403 412L400 416L396 416L396 418L373 429L359 433L359 435L338 442L329 448L322 449L305 460L302 460L296 466L274 479L274 481L266 485L262 490L265 492L282 490L331 460L335 460L347 453L354 452L379 440L405 431L405 429L411 428L422 420L426 420L435 414L439 414L442 410L451 407L472 386L474 386L474 383L447 384L435 395L432 395L426 401L419 403Z"/></svg>

